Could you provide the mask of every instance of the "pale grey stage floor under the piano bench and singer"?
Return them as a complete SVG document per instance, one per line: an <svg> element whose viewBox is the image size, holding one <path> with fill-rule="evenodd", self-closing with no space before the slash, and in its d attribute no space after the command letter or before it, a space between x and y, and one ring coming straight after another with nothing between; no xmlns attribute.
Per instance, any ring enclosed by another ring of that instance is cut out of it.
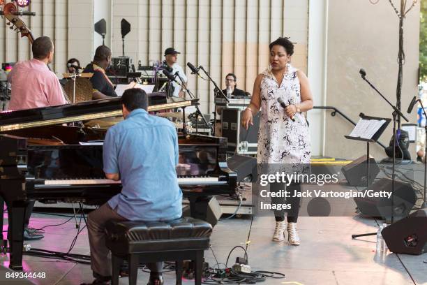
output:
<svg viewBox="0 0 427 285"><path fill-rule="evenodd" d="M31 226L61 224L65 217L33 214ZM31 247L68 251L76 233L74 220L62 226L46 228L43 240L31 242ZM212 249L219 263L236 245L248 242L248 259L253 270L283 272L285 279L267 279L263 284L427 284L427 255L375 254L375 236L352 240L353 233L377 231L374 219L361 217L300 217L301 245L271 242L273 217L254 217L220 221L214 228ZM80 234L72 253L89 254L87 231ZM206 251L209 265L215 265L212 251ZM243 251L236 249L230 257L234 262ZM230 265L229 262L229 265ZM8 266L8 256L0 257L0 264ZM1 268L0 284L13 283L5 279L6 268ZM45 272L45 279L31 279L34 284L80 284L92 280L90 265L24 256L24 270ZM174 284L174 274L165 273L165 284ZM148 274L140 271L138 284L147 284ZM120 284L128 284L127 278ZM193 284L184 280L183 284Z"/></svg>

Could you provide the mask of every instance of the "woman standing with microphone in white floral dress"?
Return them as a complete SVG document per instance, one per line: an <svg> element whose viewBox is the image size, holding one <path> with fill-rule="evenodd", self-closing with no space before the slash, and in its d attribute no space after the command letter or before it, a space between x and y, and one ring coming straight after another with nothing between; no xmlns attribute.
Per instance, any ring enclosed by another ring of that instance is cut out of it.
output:
<svg viewBox="0 0 427 285"><path fill-rule="evenodd" d="M313 96L306 75L290 65L294 45L288 38L278 38L270 43L270 64L257 75L253 96L242 116L242 124L248 129L253 124L253 115L261 109L258 133L257 163L286 164L292 169L304 168L310 163L310 136L302 112L313 108ZM285 108L278 102L281 98ZM288 168L289 169L289 168ZM291 195L300 191L300 183L290 184ZM270 191L283 189L283 184L271 184ZM291 209L287 213L288 242L299 245L297 219L300 198L287 198ZM274 200L272 200L274 203ZM276 228L273 240L280 242L285 235L283 212L275 212Z"/></svg>

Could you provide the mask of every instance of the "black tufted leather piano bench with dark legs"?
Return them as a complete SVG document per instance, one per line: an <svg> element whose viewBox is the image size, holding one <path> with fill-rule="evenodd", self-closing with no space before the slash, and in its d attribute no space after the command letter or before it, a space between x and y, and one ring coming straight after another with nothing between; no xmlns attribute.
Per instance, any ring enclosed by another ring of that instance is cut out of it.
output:
<svg viewBox="0 0 427 285"><path fill-rule="evenodd" d="M123 260L129 265L129 284L137 283L140 263L175 261L181 284L183 261L195 263L195 284L202 284L203 251L209 249L212 226L183 217L173 221L109 221L106 245L112 253L112 284L119 284Z"/></svg>

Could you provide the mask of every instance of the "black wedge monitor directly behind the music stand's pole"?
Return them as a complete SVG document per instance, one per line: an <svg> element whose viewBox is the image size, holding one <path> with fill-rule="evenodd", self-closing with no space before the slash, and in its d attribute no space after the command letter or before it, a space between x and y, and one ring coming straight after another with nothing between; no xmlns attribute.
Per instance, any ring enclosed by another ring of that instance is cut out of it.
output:
<svg viewBox="0 0 427 285"><path fill-rule="evenodd" d="M348 163L346 166L341 168L345 179L347 180L350 186L366 186L366 155L360 156L359 159ZM380 173L380 168L378 167L375 159L369 157L369 184L373 183L375 177Z"/></svg>

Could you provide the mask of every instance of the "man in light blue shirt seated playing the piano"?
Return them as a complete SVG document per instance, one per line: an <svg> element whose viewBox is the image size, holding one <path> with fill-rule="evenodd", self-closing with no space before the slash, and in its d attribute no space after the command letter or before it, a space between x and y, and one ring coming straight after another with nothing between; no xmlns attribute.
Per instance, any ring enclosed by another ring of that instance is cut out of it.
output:
<svg viewBox="0 0 427 285"><path fill-rule="evenodd" d="M128 89L121 97L123 122L112 126L103 146L107 179L121 180L121 193L89 214L93 284L109 284L111 262L105 246L105 223L117 221L167 221L181 217L178 138L174 125L147 112L147 94ZM163 284L163 263L147 264L149 284Z"/></svg>

